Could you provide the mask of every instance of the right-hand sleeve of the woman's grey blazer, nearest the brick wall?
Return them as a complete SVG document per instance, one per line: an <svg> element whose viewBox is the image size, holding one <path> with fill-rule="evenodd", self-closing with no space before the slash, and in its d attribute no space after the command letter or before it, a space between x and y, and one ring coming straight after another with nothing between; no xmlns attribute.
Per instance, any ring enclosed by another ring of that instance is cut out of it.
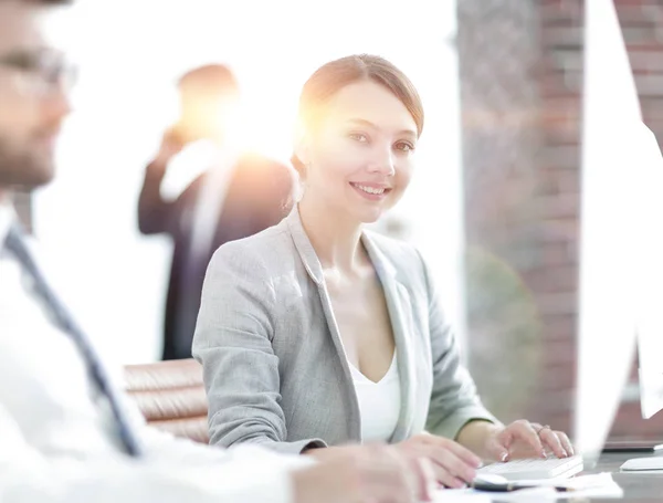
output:
<svg viewBox="0 0 663 503"><path fill-rule="evenodd" d="M421 261L427 279L433 357L433 391L427 430L433 434L455 439L470 421L486 420L495 423L499 421L483 406L474 380L461 364L457 340L444 318L430 271L423 259Z"/></svg>

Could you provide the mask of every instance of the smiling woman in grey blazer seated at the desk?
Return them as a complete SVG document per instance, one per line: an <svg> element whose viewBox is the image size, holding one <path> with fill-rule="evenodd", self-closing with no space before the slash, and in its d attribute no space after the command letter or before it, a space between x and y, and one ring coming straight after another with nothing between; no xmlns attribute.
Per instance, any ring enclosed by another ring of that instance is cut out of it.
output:
<svg viewBox="0 0 663 503"><path fill-rule="evenodd" d="M305 84L299 119L301 201L207 273L193 355L211 443L325 455L387 441L446 486L480 458L571 454L565 433L505 427L482 406L417 250L362 229L409 185L423 128L412 83L381 57L343 57Z"/></svg>

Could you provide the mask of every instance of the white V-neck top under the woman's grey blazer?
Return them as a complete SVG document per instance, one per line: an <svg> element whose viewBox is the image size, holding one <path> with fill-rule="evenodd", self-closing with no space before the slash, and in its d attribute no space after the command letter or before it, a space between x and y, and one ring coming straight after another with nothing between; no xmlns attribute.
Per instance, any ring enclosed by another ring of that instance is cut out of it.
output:
<svg viewBox="0 0 663 503"><path fill-rule="evenodd" d="M388 442L396 430L401 409L401 389L396 352L385 377L373 383L350 364L359 401L361 440Z"/></svg>

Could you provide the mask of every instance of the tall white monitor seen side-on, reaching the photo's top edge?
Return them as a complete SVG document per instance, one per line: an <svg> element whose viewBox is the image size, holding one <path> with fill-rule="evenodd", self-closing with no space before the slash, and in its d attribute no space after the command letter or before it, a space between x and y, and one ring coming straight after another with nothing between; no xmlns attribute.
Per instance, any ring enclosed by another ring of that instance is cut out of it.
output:
<svg viewBox="0 0 663 503"><path fill-rule="evenodd" d="M642 201L634 166L646 144L638 92L611 0L586 2L578 373L573 439L586 468L601 453L635 347L634 274ZM663 213L662 213L663 214Z"/></svg>

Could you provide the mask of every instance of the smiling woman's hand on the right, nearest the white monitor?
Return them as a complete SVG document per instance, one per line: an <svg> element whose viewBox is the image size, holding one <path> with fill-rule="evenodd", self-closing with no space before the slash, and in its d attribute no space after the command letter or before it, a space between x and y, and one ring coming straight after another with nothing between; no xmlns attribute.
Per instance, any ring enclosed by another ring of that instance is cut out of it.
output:
<svg viewBox="0 0 663 503"><path fill-rule="evenodd" d="M547 451L557 458L573 455L573 447L564 431L525 419L506 427L495 427L486 438L486 450L494 460L546 458Z"/></svg>

